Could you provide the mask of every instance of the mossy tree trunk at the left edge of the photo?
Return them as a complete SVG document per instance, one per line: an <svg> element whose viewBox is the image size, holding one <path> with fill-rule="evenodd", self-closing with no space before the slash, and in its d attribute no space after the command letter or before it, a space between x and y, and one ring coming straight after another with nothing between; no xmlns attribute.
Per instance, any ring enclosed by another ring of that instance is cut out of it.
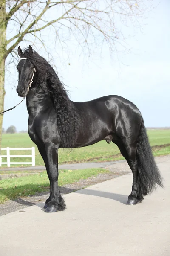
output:
<svg viewBox="0 0 170 256"><path fill-rule="evenodd" d="M5 78L5 55L6 55L6 1L0 1L0 113L4 105L4 78ZM0 115L0 148L2 140L3 114Z"/></svg>

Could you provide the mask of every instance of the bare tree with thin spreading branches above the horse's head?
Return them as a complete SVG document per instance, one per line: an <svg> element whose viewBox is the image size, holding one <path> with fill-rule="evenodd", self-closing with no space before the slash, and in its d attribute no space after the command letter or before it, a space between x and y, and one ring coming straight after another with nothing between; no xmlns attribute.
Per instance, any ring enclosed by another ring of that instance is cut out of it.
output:
<svg viewBox="0 0 170 256"><path fill-rule="evenodd" d="M123 35L116 23L142 15L150 0L0 0L0 112L4 105L5 62L17 59L21 41L39 40L47 28L56 41L67 47L74 36L82 49L108 43L114 50ZM63 32L64 31L64 32ZM9 58L10 57L10 58ZM7 63L6 63L7 65ZM0 115L0 145L3 115Z"/></svg>

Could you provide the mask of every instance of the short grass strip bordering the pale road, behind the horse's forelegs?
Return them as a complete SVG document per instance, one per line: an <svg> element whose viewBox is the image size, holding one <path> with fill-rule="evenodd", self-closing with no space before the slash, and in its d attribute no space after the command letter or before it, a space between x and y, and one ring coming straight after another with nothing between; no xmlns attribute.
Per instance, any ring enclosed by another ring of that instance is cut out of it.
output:
<svg viewBox="0 0 170 256"><path fill-rule="evenodd" d="M74 183L80 179L95 177L99 173L108 173L102 168L83 170L60 170L59 186ZM26 195L34 195L36 192L49 191L49 180L46 171L25 177L0 180L0 204Z"/></svg>

